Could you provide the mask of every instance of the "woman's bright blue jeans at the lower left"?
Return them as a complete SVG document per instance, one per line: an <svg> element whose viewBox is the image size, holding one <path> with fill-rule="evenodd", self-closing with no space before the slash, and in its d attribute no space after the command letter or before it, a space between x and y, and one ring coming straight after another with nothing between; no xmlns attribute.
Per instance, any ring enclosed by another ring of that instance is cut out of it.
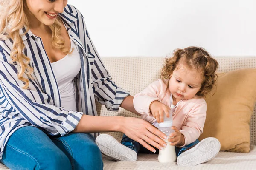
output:
<svg viewBox="0 0 256 170"><path fill-rule="evenodd" d="M10 136L1 162L12 170L102 170L103 162L90 133L47 136L25 126Z"/></svg>

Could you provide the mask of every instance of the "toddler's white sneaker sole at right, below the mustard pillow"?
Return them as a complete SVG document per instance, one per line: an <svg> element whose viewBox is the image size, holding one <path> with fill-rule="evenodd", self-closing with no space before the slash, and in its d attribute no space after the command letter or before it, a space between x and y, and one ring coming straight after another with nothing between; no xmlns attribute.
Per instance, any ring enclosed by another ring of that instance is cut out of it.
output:
<svg viewBox="0 0 256 170"><path fill-rule="evenodd" d="M216 138L205 138L195 147L185 150L177 157L179 166L195 166L213 159L220 151L221 143Z"/></svg>

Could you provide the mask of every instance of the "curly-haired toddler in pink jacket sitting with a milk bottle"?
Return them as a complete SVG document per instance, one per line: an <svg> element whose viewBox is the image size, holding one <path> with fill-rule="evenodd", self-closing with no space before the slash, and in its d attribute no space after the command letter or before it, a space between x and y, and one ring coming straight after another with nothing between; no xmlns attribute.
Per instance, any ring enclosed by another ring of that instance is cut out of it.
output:
<svg viewBox="0 0 256 170"><path fill-rule="evenodd" d="M203 132L207 104L204 97L215 86L218 62L203 48L177 49L167 58L161 79L134 96L134 108L141 118L155 127L164 114L173 116L169 142L175 146L177 164L194 166L214 158L220 150L216 138L198 137ZM171 113L172 115L169 115ZM112 136L101 134L96 139L103 154L118 161L136 161L138 153L158 153L163 147L147 150L124 134L121 144Z"/></svg>

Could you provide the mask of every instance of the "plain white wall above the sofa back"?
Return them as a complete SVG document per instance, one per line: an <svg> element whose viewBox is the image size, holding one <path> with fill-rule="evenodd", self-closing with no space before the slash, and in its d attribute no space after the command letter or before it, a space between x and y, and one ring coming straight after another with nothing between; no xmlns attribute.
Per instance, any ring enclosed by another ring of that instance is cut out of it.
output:
<svg viewBox="0 0 256 170"><path fill-rule="evenodd" d="M256 55L255 0L68 0L102 57L166 56L201 46L213 56Z"/></svg>

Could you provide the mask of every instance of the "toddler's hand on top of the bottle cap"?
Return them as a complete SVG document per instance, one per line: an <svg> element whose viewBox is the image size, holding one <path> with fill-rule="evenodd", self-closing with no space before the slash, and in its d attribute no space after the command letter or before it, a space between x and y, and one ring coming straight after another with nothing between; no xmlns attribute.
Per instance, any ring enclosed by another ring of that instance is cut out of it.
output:
<svg viewBox="0 0 256 170"><path fill-rule="evenodd" d="M170 108L157 100L150 104L149 109L158 123L163 122L164 114L169 117Z"/></svg>

